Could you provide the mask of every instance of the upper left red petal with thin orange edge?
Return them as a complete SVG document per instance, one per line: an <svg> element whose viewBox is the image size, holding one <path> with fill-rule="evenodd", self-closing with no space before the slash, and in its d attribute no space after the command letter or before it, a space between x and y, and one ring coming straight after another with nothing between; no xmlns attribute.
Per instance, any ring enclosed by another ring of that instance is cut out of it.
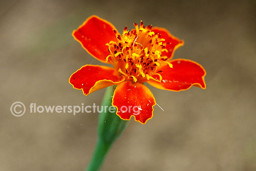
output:
<svg viewBox="0 0 256 171"><path fill-rule="evenodd" d="M113 29L116 30L107 20L93 15L74 30L72 35L89 54L106 63L104 58L109 55L106 43L117 41Z"/></svg>

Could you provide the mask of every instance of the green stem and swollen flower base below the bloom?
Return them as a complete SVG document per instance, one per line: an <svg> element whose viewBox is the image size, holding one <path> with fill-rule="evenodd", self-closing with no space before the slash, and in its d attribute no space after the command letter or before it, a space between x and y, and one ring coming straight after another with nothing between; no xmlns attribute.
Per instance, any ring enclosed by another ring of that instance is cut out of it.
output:
<svg viewBox="0 0 256 171"><path fill-rule="evenodd" d="M99 113L98 140L95 146L93 157L86 171L99 171L111 145L119 137L122 131L128 126L129 121L121 120L116 115L116 109L110 112L108 109L112 103L113 92L116 86L108 87L102 100L102 106L108 106L106 111ZM112 107L113 108L113 107Z"/></svg>

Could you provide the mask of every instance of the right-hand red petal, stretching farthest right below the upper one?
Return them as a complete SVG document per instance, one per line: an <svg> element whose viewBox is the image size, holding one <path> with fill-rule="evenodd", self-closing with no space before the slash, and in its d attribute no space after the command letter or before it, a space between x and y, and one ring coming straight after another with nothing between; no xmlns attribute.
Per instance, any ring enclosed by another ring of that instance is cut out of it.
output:
<svg viewBox="0 0 256 171"><path fill-rule="evenodd" d="M171 60L170 63L172 63L173 68L168 65L158 68L158 73L163 77L161 83L151 80L148 83L156 88L172 91L186 90L192 85L203 89L206 88L204 82L206 72L200 64L184 59ZM159 80L157 75L154 78Z"/></svg>

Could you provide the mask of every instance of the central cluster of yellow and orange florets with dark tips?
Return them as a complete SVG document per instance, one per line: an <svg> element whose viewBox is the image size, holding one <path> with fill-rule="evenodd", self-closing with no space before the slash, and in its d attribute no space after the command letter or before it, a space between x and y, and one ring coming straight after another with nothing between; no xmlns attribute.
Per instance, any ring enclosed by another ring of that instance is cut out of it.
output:
<svg viewBox="0 0 256 171"><path fill-rule="evenodd" d="M165 47L167 44L161 34L151 31L152 26L145 27L143 22L134 23L135 30L128 31L125 26L123 34L120 35L116 30L117 41L110 41L106 45L110 55L105 58L126 77L126 80L133 82L145 82L153 79L152 76L157 74L157 67L161 63L167 63L171 68L172 64L167 62L166 56L162 56L163 51L168 51ZM165 43L163 43L165 42Z"/></svg>

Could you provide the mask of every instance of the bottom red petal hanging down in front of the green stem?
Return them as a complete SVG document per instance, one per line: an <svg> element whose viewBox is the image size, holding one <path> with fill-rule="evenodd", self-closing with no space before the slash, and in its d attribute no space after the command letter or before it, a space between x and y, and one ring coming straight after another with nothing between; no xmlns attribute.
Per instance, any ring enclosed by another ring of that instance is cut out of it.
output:
<svg viewBox="0 0 256 171"><path fill-rule="evenodd" d="M142 124L153 117L153 106L156 105L153 94L145 85L130 81L117 85L112 101L121 119L130 120L134 116Z"/></svg>

